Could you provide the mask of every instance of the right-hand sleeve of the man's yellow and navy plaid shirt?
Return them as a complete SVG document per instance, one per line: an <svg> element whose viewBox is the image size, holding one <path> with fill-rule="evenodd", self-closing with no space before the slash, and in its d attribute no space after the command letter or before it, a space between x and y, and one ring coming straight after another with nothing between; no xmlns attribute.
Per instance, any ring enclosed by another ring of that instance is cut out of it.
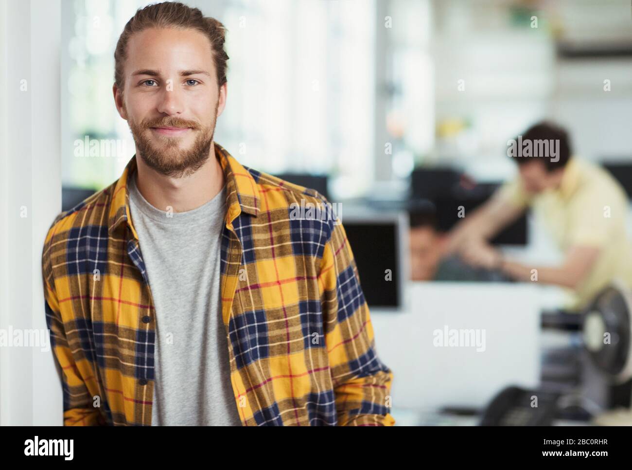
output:
<svg viewBox="0 0 632 470"><path fill-rule="evenodd" d="M331 221L319 286L339 426L392 426L392 372L375 350L367 302L339 220Z"/></svg>

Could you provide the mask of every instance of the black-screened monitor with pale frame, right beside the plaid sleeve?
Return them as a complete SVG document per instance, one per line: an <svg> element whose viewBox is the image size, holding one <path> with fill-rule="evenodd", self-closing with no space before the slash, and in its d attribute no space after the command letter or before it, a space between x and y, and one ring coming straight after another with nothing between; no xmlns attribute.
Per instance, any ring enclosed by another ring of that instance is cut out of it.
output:
<svg viewBox="0 0 632 470"><path fill-rule="evenodd" d="M369 307L404 307L409 279L408 218L404 212L354 213L342 218Z"/></svg>

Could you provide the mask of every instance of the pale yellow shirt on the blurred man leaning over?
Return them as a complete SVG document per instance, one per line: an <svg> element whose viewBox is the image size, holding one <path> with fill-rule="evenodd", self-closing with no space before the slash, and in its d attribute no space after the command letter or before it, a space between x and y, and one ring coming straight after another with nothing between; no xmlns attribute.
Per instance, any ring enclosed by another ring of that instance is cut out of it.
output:
<svg viewBox="0 0 632 470"><path fill-rule="evenodd" d="M621 185L600 166L571 158L558 189L530 195L518 176L499 189L518 207L532 207L557 247L600 249L585 280L574 290L571 309L585 307L613 280L632 288L632 248L628 238L628 198Z"/></svg>

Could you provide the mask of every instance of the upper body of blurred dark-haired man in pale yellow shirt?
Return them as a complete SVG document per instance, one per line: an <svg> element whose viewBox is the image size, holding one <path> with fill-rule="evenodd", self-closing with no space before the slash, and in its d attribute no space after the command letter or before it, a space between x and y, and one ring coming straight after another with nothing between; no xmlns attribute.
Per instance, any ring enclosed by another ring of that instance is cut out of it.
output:
<svg viewBox="0 0 632 470"><path fill-rule="evenodd" d="M449 233L446 251L515 280L569 288L574 294L571 311L585 307L615 279L632 287L628 201L619 183L599 166L573 156L566 131L552 123L533 125L507 146L520 174L466 214ZM528 207L564 252L561 264L518 263L490 246L489 240Z"/></svg>

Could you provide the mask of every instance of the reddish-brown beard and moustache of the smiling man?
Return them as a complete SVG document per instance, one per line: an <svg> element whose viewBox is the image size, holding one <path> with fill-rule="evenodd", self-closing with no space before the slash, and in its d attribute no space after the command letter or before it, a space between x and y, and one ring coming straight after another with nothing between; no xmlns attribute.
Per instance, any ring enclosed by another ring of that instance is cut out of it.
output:
<svg viewBox="0 0 632 470"><path fill-rule="evenodd" d="M217 106L215 114L217 116ZM138 154L143 162L161 175L171 178L183 178L198 171L210 156L210 144L213 142L216 118L210 126L202 127L195 121L183 120L173 116L164 118L145 119L140 124L133 119L128 119L131 134L138 149ZM179 137L162 137L163 144L156 147L147 133L153 132L152 127L189 127L198 133L197 139L189 149L180 149Z"/></svg>

